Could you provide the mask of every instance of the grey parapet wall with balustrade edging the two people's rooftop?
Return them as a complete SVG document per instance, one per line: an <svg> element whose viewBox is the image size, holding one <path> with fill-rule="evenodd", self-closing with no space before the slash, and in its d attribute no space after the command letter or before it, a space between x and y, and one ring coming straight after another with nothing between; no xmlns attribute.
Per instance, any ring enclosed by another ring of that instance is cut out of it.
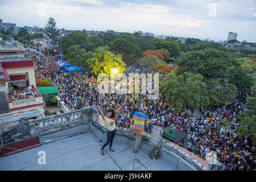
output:
<svg viewBox="0 0 256 182"><path fill-rule="evenodd" d="M99 112L94 106L80 110L52 115L30 121L23 121L11 129L2 133L4 144L17 142L28 138L39 137L40 142L60 138L62 135L73 135L82 132L92 132L101 142L106 141L106 126L99 121ZM117 128L114 142L134 146L135 140L128 139L129 129ZM152 136L144 134L150 142L141 141L140 150L149 152L154 148ZM103 143L102 143L103 144ZM160 159L173 164L176 170L206 170L206 168L191 155L180 148L160 139L159 146L162 147Z"/></svg>

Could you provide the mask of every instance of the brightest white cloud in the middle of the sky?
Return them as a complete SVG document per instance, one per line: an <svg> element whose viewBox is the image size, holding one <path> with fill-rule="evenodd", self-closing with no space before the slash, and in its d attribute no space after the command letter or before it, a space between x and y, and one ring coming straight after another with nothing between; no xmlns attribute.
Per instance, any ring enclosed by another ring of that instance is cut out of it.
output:
<svg viewBox="0 0 256 182"><path fill-rule="evenodd" d="M170 8L163 5L135 5L133 3L122 3L117 7L110 7L108 12L109 16L118 15L118 19L123 20L126 23L182 27L197 27L203 24L201 20L193 19L189 15L174 14Z"/></svg>

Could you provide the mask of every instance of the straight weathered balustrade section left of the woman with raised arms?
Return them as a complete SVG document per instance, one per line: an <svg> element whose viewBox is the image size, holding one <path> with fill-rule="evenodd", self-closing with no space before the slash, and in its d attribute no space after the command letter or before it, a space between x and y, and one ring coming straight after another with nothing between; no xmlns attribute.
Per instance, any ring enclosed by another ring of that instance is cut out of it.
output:
<svg viewBox="0 0 256 182"><path fill-rule="evenodd" d="M92 121L92 107L46 118L20 121L12 127L2 129L2 142L3 144L11 144L19 140L53 134L90 121Z"/></svg>

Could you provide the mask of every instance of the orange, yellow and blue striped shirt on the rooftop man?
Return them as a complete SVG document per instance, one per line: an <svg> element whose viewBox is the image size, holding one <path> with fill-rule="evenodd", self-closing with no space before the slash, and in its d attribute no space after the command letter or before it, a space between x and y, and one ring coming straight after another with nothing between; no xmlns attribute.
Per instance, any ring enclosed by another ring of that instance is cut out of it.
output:
<svg viewBox="0 0 256 182"><path fill-rule="evenodd" d="M133 115L133 119L131 119L131 120L134 121L133 131L135 133L143 135L145 123L147 124L150 122L147 118L147 115L143 114L143 113L135 112Z"/></svg>

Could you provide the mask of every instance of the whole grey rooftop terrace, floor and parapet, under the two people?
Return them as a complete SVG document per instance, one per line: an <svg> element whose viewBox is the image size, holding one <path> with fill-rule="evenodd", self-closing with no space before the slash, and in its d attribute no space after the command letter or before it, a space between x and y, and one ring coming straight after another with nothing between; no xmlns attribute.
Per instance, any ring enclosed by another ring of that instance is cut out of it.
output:
<svg viewBox="0 0 256 182"><path fill-rule="evenodd" d="M98 110L93 106L20 122L12 128L3 129L2 140L5 144L0 154L0 170L207 169L193 156L159 137L162 154L159 159L151 159L149 153L157 139L154 134L147 135L150 142L142 140L138 152L134 153L135 140L129 140L128 135L128 129L117 129L113 141L115 152L106 146L105 155L101 155L100 148L106 140L106 127L98 120ZM20 144L22 142L23 146ZM46 152L46 164L38 163L39 151Z"/></svg>

